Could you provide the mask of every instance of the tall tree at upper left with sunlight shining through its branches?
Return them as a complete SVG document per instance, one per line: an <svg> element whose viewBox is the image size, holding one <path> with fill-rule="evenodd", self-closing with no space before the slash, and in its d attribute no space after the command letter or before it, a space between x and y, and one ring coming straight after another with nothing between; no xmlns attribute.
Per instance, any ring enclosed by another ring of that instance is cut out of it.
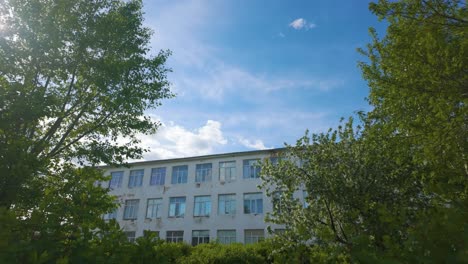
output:
<svg viewBox="0 0 468 264"><path fill-rule="evenodd" d="M33 179L59 161L113 164L142 154L136 134L158 127L145 111L172 95L169 52L148 55L141 5L0 4L0 206L34 204L41 190Z"/></svg>

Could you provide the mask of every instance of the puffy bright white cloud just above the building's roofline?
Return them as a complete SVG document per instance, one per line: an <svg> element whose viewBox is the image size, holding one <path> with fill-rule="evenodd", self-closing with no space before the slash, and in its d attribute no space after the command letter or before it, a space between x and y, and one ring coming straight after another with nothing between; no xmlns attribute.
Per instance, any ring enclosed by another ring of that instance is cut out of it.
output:
<svg viewBox="0 0 468 264"><path fill-rule="evenodd" d="M221 123L208 120L195 130L188 130L173 122L162 124L154 135L140 135L141 146L150 152L144 160L182 158L212 154L216 147L227 144Z"/></svg>

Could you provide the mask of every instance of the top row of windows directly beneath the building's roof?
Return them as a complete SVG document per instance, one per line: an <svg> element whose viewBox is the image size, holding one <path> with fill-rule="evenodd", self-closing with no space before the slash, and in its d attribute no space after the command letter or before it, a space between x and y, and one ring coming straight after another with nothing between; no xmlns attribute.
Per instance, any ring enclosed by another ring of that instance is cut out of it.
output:
<svg viewBox="0 0 468 264"><path fill-rule="evenodd" d="M260 166L258 159L249 159L243 161L243 178L259 178ZM213 175L212 163L196 164L195 166L195 182L209 182ZM131 170L128 178L128 187L140 187L143 185L144 170ZM111 172L111 180L109 188L115 189L122 187L124 172ZM187 183L188 165L172 166L171 184ZM219 163L219 180L234 181L236 179L236 162L224 161ZM166 167L152 168L150 176L150 185L164 185L166 181Z"/></svg>

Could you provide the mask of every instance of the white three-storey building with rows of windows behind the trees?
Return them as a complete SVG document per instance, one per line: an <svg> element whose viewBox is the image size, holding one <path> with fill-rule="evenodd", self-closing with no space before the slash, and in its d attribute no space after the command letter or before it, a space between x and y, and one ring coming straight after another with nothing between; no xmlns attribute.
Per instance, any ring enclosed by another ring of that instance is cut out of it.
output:
<svg viewBox="0 0 468 264"><path fill-rule="evenodd" d="M161 239L193 245L215 239L257 242L269 235L268 225L284 228L265 223L272 203L257 187L261 184L257 162L276 153L278 149L103 167L111 175L105 184L120 204L104 217L115 218L129 240L149 230Z"/></svg>

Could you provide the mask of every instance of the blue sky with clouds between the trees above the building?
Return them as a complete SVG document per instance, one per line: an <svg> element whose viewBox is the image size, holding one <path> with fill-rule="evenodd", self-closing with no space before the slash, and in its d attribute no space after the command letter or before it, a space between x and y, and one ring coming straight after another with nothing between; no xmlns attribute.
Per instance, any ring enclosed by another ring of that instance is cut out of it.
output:
<svg viewBox="0 0 468 264"><path fill-rule="evenodd" d="M369 110L356 52L368 28L354 1L144 1L152 52L170 49L174 99L148 112L145 159L282 147Z"/></svg>

